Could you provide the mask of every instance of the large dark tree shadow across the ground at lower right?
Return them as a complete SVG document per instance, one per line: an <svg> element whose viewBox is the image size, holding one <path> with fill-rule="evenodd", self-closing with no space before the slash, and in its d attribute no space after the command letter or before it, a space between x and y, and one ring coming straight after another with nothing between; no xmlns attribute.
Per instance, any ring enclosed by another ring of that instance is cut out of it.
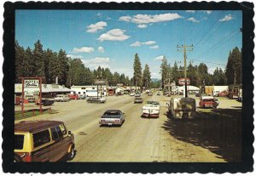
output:
<svg viewBox="0 0 256 176"><path fill-rule="evenodd" d="M241 109L198 111L188 120L166 116L162 128L175 139L206 148L226 162L241 161Z"/></svg>

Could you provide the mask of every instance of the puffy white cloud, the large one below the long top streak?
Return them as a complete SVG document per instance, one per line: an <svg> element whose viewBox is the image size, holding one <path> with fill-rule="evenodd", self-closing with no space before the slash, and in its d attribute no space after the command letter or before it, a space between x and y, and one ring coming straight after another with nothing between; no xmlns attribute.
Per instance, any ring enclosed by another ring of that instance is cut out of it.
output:
<svg viewBox="0 0 256 176"><path fill-rule="evenodd" d="M110 31L107 31L107 33L103 33L100 37L97 38L99 41L124 41L130 38L130 36L126 36L125 30L121 29L113 29Z"/></svg>

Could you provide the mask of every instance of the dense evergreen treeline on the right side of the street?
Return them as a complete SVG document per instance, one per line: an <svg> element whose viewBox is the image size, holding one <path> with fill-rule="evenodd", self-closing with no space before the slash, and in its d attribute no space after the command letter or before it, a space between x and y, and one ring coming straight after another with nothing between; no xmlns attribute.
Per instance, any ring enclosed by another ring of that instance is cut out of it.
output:
<svg viewBox="0 0 256 176"><path fill-rule="evenodd" d="M178 78L184 77L183 66L177 66L177 62L173 66L167 63L166 57L163 58L160 65L161 82L166 78L171 77L172 81L177 82ZM241 83L241 51L239 48L234 48L230 51L227 65L223 71L221 68L216 68L213 74L208 72L206 64L187 66L187 77L190 79L190 85L200 87L203 82L208 85L228 85Z"/></svg>

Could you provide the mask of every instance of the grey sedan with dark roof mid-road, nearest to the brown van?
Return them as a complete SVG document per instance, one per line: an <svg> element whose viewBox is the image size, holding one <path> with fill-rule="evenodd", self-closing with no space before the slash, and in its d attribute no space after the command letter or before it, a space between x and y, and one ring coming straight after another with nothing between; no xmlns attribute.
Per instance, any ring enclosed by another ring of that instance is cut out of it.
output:
<svg viewBox="0 0 256 176"><path fill-rule="evenodd" d="M125 122L125 113L120 110L107 110L101 116L99 124L102 125L118 125L122 126Z"/></svg>

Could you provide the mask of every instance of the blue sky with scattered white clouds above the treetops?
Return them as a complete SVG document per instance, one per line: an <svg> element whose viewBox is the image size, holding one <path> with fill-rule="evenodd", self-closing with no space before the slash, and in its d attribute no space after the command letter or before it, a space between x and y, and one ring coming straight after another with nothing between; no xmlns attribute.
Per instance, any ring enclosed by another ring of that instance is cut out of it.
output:
<svg viewBox="0 0 256 176"><path fill-rule="evenodd" d="M160 78L163 56L183 65L177 45L194 45L188 62L204 62L209 72L224 69L232 48L241 48L238 10L16 10L15 39L24 48L64 49L91 70L98 65L133 75L137 53L152 78ZM35 60L36 61L36 60Z"/></svg>

